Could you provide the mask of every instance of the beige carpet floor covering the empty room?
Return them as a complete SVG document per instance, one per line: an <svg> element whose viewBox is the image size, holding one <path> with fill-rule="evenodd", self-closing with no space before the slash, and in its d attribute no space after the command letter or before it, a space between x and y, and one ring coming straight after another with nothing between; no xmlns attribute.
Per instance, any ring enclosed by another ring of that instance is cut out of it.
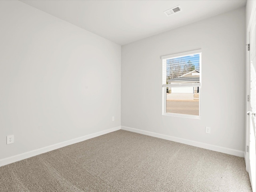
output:
<svg viewBox="0 0 256 192"><path fill-rule="evenodd" d="M244 158L118 130L0 167L1 192L248 192Z"/></svg>

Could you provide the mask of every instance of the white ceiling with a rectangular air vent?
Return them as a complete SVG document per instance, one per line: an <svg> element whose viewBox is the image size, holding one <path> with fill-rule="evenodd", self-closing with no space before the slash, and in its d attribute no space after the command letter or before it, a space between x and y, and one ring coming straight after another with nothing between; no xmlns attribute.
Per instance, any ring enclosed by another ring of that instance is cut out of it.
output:
<svg viewBox="0 0 256 192"><path fill-rule="evenodd" d="M20 0L120 45L246 5L246 0ZM180 5L182 11L166 16Z"/></svg>

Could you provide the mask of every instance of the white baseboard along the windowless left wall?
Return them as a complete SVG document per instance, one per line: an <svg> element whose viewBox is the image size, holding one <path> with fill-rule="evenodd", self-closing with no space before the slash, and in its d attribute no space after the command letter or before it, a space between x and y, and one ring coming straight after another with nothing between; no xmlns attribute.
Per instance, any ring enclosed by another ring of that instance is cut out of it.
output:
<svg viewBox="0 0 256 192"><path fill-rule="evenodd" d="M68 140L68 141L53 144L53 145L46 146L46 147L43 147L43 148L39 148L39 149L36 149L36 150L28 151L28 152L25 152L25 153L22 153L22 154L10 156L8 158L3 158L3 159L0 159L0 166L4 166L4 165L10 164L10 163L14 163L14 162L26 159L26 158L30 158L32 156L36 156L36 155L39 155L39 154L42 154L42 153L46 153L46 152L49 152L49 151L52 151L52 150L55 150L55 149L58 149L58 148L62 148L62 147L65 147L65 146L68 146L68 145L71 145L71 144L75 144L75 143L78 143L78 142L81 142L81 141L84 141L84 140L88 140L88 139L91 139L91 138L94 138L94 137L98 137L98 136L101 136L101 135L104 135L104 134L107 134L107 133L110 133L110 132L113 132L113 131L117 131L117 130L120 130L120 129L121 129L121 126L118 126L118 127L114 127L114 128L108 129L108 130L96 132L96 133L93 133L93 134L89 134L89 135L85 135L85 136L82 136L82 137L74 138L74 139L71 139L71 140Z"/></svg>

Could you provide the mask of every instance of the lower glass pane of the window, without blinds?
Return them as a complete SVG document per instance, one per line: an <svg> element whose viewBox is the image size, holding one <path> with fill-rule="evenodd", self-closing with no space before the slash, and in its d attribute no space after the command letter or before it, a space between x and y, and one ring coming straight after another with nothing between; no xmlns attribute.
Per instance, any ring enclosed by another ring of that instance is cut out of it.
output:
<svg viewBox="0 0 256 192"><path fill-rule="evenodd" d="M166 89L166 113L199 116L199 88L172 87Z"/></svg>

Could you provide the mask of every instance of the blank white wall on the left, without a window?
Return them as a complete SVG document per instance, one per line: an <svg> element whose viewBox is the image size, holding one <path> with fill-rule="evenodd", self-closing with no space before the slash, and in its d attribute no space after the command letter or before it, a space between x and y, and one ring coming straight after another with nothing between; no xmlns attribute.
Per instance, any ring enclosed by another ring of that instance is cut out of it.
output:
<svg viewBox="0 0 256 192"><path fill-rule="evenodd" d="M0 26L0 159L120 126L121 46L19 1Z"/></svg>

